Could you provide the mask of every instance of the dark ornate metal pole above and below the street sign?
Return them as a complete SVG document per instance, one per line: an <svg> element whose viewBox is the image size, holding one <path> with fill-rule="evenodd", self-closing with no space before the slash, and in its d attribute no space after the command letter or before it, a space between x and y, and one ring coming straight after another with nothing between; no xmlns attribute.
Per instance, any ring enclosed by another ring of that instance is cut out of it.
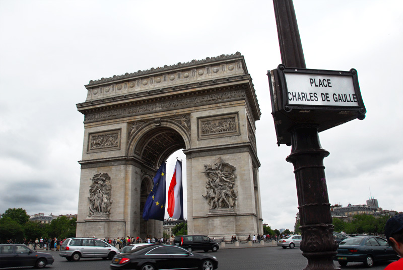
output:
<svg viewBox="0 0 403 270"><path fill-rule="evenodd" d="M306 68L301 38L292 0L273 0L282 63L287 67ZM323 159L329 152L319 142L315 123L297 124L291 134L302 242L300 249L308 259L305 270L340 269L333 263L338 244L333 237L330 204L327 195Z"/></svg>

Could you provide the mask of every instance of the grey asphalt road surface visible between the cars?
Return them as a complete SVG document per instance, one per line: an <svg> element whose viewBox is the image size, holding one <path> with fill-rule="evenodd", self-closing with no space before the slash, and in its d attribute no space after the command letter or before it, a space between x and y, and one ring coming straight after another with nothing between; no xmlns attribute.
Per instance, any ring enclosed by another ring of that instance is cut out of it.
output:
<svg viewBox="0 0 403 270"><path fill-rule="evenodd" d="M198 252L198 251L197 251ZM58 255L58 252L52 251L55 261L53 265L46 266L49 270L102 270L110 269L110 260L99 258L81 258L80 261L68 261ZM299 248L283 249L281 247L255 247L255 248L234 248L220 249L217 252L209 252L218 259L218 269L237 270L237 269L267 269L267 270L302 270L306 267L308 261L302 256ZM338 262L335 262L339 266ZM375 264L371 269L383 270L389 262ZM342 269L367 269L363 263L349 263ZM29 269L27 267L21 269Z"/></svg>

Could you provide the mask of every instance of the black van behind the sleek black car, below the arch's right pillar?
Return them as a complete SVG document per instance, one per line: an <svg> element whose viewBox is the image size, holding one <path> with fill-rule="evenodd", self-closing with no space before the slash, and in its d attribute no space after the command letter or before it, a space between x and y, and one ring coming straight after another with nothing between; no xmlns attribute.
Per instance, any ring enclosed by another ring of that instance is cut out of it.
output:
<svg viewBox="0 0 403 270"><path fill-rule="evenodd" d="M175 245L186 248L190 252L193 250L216 252L220 247L216 241L206 235L177 235L174 242Z"/></svg>

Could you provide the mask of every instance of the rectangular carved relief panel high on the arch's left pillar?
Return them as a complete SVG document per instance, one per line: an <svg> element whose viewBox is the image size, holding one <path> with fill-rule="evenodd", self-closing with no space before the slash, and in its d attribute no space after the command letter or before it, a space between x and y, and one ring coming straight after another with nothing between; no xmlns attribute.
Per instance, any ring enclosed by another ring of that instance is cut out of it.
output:
<svg viewBox="0 0 403 270"><path fill-rule="evenodd" d="M88 152L116 149L120 149L120 129L89 134Z"/></svg>

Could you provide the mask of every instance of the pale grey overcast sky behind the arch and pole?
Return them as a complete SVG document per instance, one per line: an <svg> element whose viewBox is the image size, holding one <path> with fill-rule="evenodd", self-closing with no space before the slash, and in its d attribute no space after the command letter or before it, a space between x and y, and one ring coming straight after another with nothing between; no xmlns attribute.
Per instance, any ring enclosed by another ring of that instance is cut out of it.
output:
<svg viewBox="0 0 403 270"><path fill-rule="evenodd" d="M319 133L330 152L330 204L365 204L371 194L403 211L403 2L294 7L307 67L355 68L367 109L364 120ZM266 76L281 63L272 1L0 0L0 39L0 213L77 214L84 116L76 104L90 80L239 51L261 110L263 222L294 229L291 147L276 144Z"/></svg>

